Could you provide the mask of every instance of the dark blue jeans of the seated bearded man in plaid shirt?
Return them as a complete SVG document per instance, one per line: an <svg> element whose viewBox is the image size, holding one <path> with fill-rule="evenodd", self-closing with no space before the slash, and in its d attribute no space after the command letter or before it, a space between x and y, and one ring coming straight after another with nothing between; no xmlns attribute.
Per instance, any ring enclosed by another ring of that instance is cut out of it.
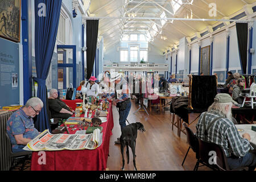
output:
<svg viewBox="0 0 256 182"><path fill-rule="evenodd" d="M249 170L254 170L256 167L256 155L254 153L248 152L245 156L241 158L230 157L227 158L230 169L237 169L242 166L249 167Z"/></svg>

